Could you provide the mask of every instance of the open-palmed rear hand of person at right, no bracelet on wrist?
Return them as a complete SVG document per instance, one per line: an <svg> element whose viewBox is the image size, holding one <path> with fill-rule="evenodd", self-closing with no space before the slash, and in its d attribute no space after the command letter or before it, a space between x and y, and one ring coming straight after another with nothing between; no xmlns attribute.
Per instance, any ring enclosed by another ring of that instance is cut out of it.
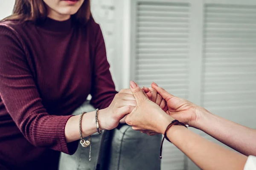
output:
<svg viewBox="0 0 256 170"><path fill-rule="evenodd" d="M167 110L166 113L172 116L174 119L179 120L185 124L192 127L197 127L197 122L199 117L201 117L202 111L206 109L193 104L185 99L173 96L165 91L163 88L158 87L156 83L152 83L152 88L154 88L158 94L160 94L163 99L166 100Z"/></svg>

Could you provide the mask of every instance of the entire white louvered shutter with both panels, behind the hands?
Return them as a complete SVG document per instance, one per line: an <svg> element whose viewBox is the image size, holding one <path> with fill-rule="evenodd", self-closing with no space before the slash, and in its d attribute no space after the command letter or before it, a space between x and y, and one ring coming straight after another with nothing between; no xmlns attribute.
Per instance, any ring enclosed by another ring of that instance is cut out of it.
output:
<svg viewBox="0 0 256 170"><path fill-rule="evenodd" d="M131 79L256 128L256 0L135 1ZM198 169L187 160L164 143L163 170Z"/></svg>

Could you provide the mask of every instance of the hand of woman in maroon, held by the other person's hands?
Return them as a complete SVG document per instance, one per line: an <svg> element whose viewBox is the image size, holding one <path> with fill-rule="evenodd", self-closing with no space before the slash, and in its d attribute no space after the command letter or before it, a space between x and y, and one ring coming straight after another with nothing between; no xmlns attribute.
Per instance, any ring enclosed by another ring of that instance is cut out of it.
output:
<svg viewBox="0 0 256 170"><path fill-rule="evenodd" d="M101 129L111 130L117 127L126 114L131 113L137 102L130 89L122 89L114 97L108 108L99 111L98 119Z"/></svg>

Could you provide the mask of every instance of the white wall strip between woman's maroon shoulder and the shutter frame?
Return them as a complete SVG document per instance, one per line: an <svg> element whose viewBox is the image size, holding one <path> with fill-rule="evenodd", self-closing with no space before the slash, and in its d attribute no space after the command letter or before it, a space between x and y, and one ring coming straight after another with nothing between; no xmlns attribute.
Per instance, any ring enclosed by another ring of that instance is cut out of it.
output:
<svg viewBox="0 0 256 170"><path fill-rule="evenodd" d="M102 28L111 74L117 90L123 88L124 71L122 69L122 3L123 1L120 0L91 0L92 14Z"/></svg>

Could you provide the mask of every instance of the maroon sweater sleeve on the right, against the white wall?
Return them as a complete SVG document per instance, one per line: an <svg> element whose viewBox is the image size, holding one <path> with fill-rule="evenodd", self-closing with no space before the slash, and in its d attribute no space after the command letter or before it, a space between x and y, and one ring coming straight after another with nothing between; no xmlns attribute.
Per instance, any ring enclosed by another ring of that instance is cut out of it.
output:
<svg viewBox="0 0 256 170"><path fill-rule="evenodd" d="M93 77L91 89L91 104L95 108L107 108L117 91L109 71L105 42L100 26L96 24L95 58L93 64Z"/></svg>

